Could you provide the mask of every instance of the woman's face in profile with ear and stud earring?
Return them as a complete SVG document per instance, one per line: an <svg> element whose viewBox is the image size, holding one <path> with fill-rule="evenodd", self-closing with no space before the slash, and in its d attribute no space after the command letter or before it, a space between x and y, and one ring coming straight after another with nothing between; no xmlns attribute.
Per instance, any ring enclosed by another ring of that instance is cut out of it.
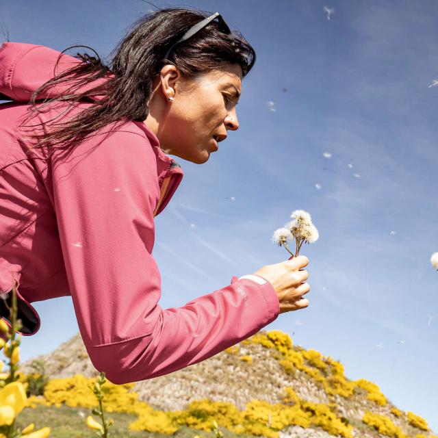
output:
<svg viewBox="0 0 438 438"><path fill-rule="evenodd" d="M227 131L238 129L235 105L241 88L242 69L237 64L194 79L182 77L175 66L164 66L144 123L165 153L203 164L227 138Z"/></svg>

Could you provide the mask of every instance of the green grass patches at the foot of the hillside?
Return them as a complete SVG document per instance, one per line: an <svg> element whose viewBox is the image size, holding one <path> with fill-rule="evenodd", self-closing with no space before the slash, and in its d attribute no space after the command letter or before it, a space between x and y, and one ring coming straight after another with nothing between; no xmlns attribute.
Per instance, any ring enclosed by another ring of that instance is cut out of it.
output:
<svg viewBox="0 0 438 438"><path fill-rule="evenodd" d="M82 418L79 411L85 413ZM49 426L51 428L50 438L96 438L96 433L86 426L86 417L91 415L91 409L80 407L68 407L64 404L62 407L47 407L38 404L35 408L25 408L21 411L16 419L16 425L20 428L25 428L28 424L35 423L35 429ZM94 416L97 420L97 417ZM114 424L110 428L110 437L118 438L168 438L169 435L152 432L133 432L128 430L129 423L137 419L136 415L105 412L105 418L114 420ZM219 424L220 431L224 438L260 438L253 435L237 435L229 430L222 428ZM213 432L205 432L185 426L179 426L179 430L171 435L175 438L193 438L198 435L200 438L214 438Z"/></svg>

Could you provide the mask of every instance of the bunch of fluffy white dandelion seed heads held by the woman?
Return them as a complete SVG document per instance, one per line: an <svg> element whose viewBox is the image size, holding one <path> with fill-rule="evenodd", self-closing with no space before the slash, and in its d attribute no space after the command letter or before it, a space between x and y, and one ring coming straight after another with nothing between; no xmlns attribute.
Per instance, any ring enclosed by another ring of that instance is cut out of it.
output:
<svg viewBox="0 0 438 438"><path fill-rule="evenodd" d="M283 228L276 229L271 240L279 246L284 246L290 255L298 257L302 244L316 242L320 233L313 225L312 218L307 211L292 211L290 217L292 220L287 222ZM287 247L287 243L293 240L295 240L295 254Z"/></svg>

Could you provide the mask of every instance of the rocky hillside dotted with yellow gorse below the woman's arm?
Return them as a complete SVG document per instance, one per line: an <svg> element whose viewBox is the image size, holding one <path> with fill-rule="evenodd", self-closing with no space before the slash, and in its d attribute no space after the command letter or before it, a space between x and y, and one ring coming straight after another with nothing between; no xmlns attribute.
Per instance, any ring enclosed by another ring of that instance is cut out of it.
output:
<svg viewBox="0 0 438 438"><path fill-rule="evenodd" d="M22 363L21 370L34 372L30 364L36 359L44 362L51 379L96 376L79 333L51 354ZM138 382L134 390L140 400L162 411L182 411L193 400L205 398L230 402L241 411L251 400L295 406L298 420L283 428L280 438L345 438L348 433L361 438L433 437L422 418L397 409L376 385L364 379L350 381L341 363L293 346L281 331L260 331L206 361ZM309 424L299 420L306 416ZM267 426L271 420L269 414Z"/></svg>

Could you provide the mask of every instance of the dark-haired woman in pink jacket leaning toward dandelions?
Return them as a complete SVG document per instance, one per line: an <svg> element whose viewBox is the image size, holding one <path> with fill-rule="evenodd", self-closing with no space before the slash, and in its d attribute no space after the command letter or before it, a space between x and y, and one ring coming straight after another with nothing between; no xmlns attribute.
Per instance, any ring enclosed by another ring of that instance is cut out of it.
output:
<svg viewBox="0 0 438 438"><path fill-rule="evenodd" d="M96 370L116 384L161 376L305 308L305 256L162 309L154 217L183 177L167 154L202 164L228 131L255 53L216 13L141 18L112 68L88 55L5 42L0 49L0 287L30 302L71 295ZM44 100L43 100L44 99ZM39 105L36 106L36 101ZM2 300L0 300L2 302Z"/></svg>

